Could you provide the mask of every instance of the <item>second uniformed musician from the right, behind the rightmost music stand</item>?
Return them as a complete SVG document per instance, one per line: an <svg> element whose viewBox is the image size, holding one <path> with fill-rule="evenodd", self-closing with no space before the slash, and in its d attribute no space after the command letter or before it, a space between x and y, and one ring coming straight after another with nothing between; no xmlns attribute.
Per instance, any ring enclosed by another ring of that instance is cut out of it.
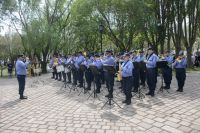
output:
<svg viewBox="0 0 200 133"><path fill-rule="evenodd" d="M163 68L163 78L165 82L165 89L170 89L171 80L172 80L172 63L174 57L170 55L169 51L165 52L164 60L167 61L167 66Z"/></svg>

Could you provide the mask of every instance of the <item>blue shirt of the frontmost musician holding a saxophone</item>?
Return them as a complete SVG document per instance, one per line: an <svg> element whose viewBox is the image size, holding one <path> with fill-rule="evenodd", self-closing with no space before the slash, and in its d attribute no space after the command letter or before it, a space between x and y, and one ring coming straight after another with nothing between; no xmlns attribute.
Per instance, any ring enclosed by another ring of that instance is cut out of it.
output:
<svg viewBox="0 0 200 133"><path fill-rule="evenodd" d="M133 63L131 61L126 61L122 63L122 77L130 77L133 75Z"/></svg>

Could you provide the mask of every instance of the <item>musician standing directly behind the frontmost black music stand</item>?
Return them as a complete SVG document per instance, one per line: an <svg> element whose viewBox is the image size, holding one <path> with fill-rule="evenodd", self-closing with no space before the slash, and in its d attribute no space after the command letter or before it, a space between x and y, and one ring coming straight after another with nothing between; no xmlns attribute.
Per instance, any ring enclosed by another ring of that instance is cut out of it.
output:
<svg viewBox="0 0 200 133"><path fill-rule="evenodd" d="M115 67L115 59L112 56L111 50L106 51L106 57L104 60L102 60L102 64ZM104 70L104 76L106 80L106 86L109 92L108 95L106 95L105 97L113 98L113 86L114 86L115 73Z"/></svg>

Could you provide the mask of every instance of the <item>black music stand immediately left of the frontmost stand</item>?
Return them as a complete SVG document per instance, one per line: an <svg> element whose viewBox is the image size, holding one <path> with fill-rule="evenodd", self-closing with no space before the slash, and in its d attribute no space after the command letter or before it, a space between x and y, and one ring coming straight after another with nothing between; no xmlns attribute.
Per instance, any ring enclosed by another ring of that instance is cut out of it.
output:
<svg viewBox="0 0 200 133"><path fill-rule="evenodd" d="M97 75L97 74L100 73L98 68L95 65L90 65L89 68L90 68L90 70L91 70L93 75ZM98 98L99 99L99 97L97 96L97 93L96 93L95 81L96 81L96 79L95 79L95 76L94 76L94 80L92 81L93 82L93 92L89 95L88 99L92 96L92 94L94 94L94 98Z"/></svg>

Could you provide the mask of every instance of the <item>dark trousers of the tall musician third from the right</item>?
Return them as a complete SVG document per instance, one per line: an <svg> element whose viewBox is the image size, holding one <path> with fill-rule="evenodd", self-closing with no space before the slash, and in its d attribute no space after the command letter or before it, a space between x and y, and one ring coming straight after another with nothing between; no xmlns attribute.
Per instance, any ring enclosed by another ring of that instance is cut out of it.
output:
<svg viewBox="0 0 200 133"><path fill-rule="evenodd" d="M149 87L149 93L154 94L156 89L156 69L155 68L147 68L147 84Z"/></svg>

